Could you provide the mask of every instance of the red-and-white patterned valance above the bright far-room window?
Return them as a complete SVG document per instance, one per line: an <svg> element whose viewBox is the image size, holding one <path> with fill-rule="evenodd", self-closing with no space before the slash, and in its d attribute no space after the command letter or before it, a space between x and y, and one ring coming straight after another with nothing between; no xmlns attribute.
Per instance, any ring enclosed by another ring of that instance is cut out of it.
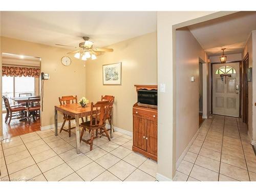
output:
<svg viewBox="0 0 256 192"><path fill-rule="evenodd" d="M10 76L10 77L39 77L40 76L40 69L38 68L25 68L25 67L2 67L3 76Z"/></svg>

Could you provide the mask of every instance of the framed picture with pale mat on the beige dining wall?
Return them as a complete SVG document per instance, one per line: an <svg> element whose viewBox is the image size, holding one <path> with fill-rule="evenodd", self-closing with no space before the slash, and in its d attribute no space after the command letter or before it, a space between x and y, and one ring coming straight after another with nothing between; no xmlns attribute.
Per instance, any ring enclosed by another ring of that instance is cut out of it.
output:
<svg viewBox="0 0 256 192"><path fill-rule="evenodd" d="M117 62L102 66L103 85L121 85L122 63Z"/></svg>

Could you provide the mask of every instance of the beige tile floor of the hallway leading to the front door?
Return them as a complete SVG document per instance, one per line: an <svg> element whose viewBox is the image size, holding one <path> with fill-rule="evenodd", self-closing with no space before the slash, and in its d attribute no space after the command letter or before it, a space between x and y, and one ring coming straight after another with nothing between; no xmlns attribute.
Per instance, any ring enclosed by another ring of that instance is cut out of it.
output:
<svg viewBox="0 0 256 192"><path fill-rule="evenodd" d="M256 156L239 118L212 116L177 168L176 181L256 181Z"/></svg>

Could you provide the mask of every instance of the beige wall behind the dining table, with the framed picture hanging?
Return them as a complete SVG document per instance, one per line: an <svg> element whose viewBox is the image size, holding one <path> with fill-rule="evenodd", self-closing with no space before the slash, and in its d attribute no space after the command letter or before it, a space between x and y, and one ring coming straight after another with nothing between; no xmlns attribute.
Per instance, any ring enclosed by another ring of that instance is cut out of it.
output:
<svg viewBox="0 0 256 192"><path fill-rule="evenodd" d="M104 53L86 63L86 97L90 102L101 95L114 95L114 126L133 131L133 104L137 102L134 84L157 84L157 33L150 33L108 46ZM122 85L103 86L102 65L122 62Z"/></svg>

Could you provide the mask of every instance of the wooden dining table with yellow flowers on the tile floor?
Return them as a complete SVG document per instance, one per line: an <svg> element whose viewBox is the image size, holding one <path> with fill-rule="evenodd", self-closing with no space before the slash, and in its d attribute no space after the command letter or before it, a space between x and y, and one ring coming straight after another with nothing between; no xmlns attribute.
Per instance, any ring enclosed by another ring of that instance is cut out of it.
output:
<svg viewBox="0 0 256 192"><path fill-rule="evenodd" d="M82 106L79 103L70 103L70 104L62 104L62 105L55 105L54 106L54 126L55 126L55 135L58 135L58 113L61 112L66 115L70 115L71 117L75 118L75 124L76 124L76 149L77 154L79 154L80 151L80 129L79 129L79 118L86 117L86 121L88 119L88 116L91 115L91 103L89 103L87 106L82 108ZM96 113L96 110L94 111ZM112 110L113 113L113 110ZM113 117L113 114L112 114ZM113 122L113 120L111 121ZM110 125L110 137L113 138L113 124Z"/></svg>

